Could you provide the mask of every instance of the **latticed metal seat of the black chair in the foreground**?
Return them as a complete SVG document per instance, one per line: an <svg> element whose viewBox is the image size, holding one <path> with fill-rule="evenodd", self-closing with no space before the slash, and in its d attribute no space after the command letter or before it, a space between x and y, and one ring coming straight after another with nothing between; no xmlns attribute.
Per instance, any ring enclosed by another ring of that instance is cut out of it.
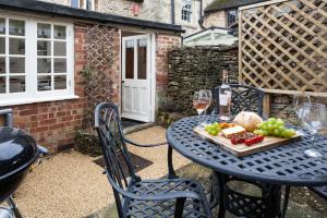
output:
<svg viewBox="0 0 327 218"><path fill-rule="evenodd" d="M195 192L203 201L186 198L183 217L207 218L211 217L209 205L205 199L206 195L195 181L183 179L141 181L130 187L130 192L137 195L158 195L173 192ZM124 209L128 217L157 218L173 217L175 210L175 199L166 201L138 201L126 199Z"/></svg>

